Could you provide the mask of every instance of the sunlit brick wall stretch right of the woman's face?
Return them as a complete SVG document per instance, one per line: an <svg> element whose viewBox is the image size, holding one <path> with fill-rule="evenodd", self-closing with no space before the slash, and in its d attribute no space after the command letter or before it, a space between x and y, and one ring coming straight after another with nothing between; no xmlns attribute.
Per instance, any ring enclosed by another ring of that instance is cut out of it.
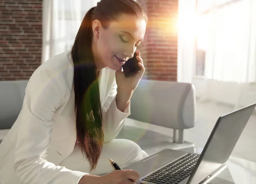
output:
<svg viewBox="0 0 256 184"><path fill-rule="evenodd" d="M141 43L144 78L177 81L178 0L137 0L147 11L148 26Z"/></svg>

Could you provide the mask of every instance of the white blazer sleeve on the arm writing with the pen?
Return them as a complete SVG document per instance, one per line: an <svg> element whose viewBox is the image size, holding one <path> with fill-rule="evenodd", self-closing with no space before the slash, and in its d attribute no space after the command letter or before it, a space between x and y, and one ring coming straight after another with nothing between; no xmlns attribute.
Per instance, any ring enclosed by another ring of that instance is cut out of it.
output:
<svg viewBox="0 0 256 184"><path fill-rule="evenodd" d="M14 158L14 170L23 184L77 184L88 174L55 166L45 159L53 116L65 98L65 91L65 79L52 71L36 70L29 80Z"/></svg>

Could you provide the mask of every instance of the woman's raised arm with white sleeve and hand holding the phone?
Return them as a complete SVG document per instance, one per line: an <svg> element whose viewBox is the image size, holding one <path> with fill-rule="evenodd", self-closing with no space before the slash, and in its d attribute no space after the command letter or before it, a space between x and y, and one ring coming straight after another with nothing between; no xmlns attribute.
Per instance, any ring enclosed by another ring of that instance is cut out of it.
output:
<svg viewBox="0 0 256 184"><path fill-rule="evenodd" d="M131 114L131 95L137 88L140 79L145 72L143 60L140 58L140 52L136 51L136 53L137 59L139 61L138 65L141 68L140 72L137 72L128 78L126 78L123 74L122 67L120 67L120 69L115 72L116 80L107 99L106 106L104 104L105 107L103 108L103 112L105 112L102 122L105 136L104 142L109 142L116 137L124 125L123 120ZM109 103L111 103L110 106Z"/></svg>

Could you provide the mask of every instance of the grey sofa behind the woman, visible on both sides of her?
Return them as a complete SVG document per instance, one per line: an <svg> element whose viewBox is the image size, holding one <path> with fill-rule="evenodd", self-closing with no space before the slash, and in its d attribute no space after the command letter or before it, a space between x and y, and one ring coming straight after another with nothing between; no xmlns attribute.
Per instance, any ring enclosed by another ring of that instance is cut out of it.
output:
<svg viewBox="0 0 256 184"><path fill-rule="evenodd" d="M27 83L28 80L0 81L0 141L17 119ZM131 115L125 121L127 125L116 138L137 142L149 155L154 152L148 148L158 145L194 149L193 143L184 141L183 132L195 126L195 88L190 83L142 79L131 98ZM132 125L143 123L172 132L166 136Z"/></svg>

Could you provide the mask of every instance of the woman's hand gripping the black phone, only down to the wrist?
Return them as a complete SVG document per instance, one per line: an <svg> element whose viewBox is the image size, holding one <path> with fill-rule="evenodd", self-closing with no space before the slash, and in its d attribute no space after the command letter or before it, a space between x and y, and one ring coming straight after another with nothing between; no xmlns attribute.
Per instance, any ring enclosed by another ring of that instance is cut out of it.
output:
<svg viewBox="0 0 256 184"><path fill-rule="evenodd" d="M140 83L140 80L145 72L145 67L143 65L143 60L140 58L140 51L136 51L136 58L139 60L138 65L141 67L140 71L136 74L126 78L125 75L122 72L122 68L116 71L116 84L117 84L117 92L133 92L138 84Z"/></svg>

